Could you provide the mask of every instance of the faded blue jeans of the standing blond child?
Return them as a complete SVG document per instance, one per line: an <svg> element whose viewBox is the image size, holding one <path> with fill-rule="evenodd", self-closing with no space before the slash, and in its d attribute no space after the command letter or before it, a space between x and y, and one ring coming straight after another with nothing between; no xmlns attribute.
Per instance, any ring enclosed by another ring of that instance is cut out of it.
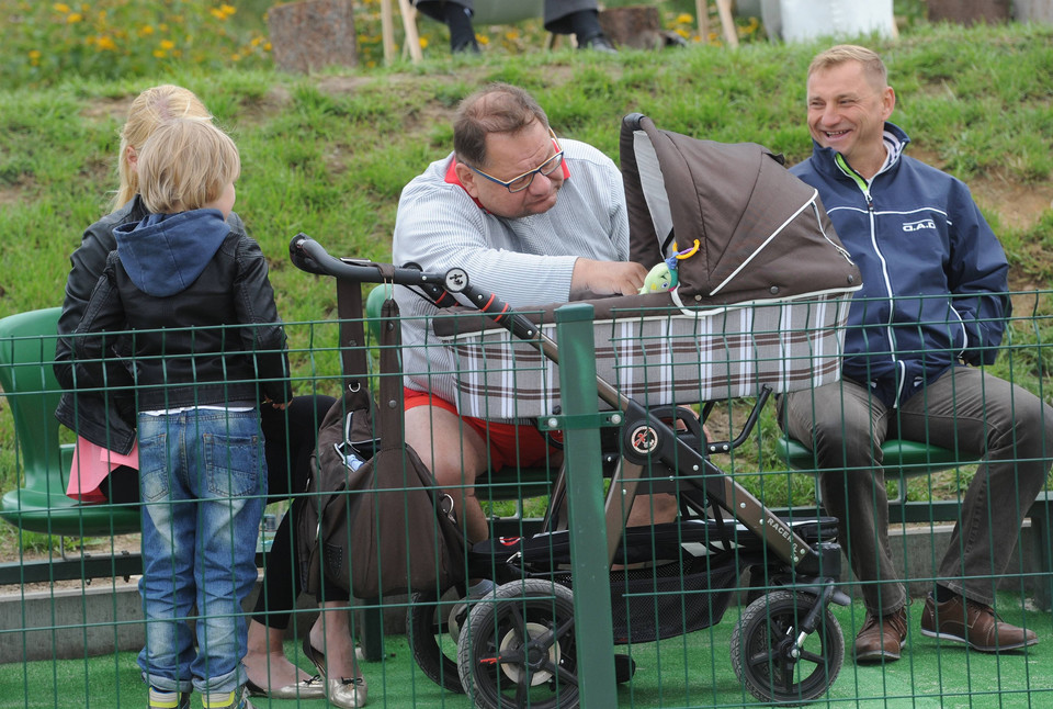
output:
<svg viewBox="0 0 1053 709"><path fill-rule="evenodd" d="M259 412L139 414L138 423L143 678L167 691L233 691L245 683L241 603L257 578L267 495Z"/></svg>

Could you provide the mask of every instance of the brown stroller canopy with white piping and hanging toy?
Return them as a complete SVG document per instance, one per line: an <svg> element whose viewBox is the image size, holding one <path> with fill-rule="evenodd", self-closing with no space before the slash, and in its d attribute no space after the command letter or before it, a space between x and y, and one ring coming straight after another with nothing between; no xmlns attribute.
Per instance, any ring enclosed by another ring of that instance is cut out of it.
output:
<svg viewBox="0 0 1053 709"><path fill-rule="evenodd" d="M659 131L645 115L622 121L630 257L650 268L677 261L679 306L713 306L854 291L859 269L814 188L755 143L725 144Z"/></svg>

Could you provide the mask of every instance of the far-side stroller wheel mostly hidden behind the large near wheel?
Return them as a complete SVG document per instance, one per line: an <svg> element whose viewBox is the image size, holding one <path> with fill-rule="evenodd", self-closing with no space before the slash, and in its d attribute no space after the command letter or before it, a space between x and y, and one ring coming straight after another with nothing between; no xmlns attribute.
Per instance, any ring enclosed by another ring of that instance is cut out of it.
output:
<svg viewBox="0 0 1053 709"><path fill-rule="evenodd" d="M406 611L406 639L424 676L443 689L464 694L457 674L457 643L446 624L453 608L453 603L440 601L434 593L414 594Z"/></svg>

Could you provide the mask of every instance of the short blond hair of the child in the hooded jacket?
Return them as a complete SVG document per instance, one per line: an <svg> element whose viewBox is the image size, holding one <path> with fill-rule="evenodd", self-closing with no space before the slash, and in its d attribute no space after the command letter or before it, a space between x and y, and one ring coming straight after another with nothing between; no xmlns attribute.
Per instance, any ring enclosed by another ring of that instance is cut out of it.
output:
<svg viewBox="0 0 1053 709"><path fill-rule="evenodd" d="M215 202L241 172L238 148L208 119L158 126L139 150L139 192L154 214L200 210Z"/></svg>

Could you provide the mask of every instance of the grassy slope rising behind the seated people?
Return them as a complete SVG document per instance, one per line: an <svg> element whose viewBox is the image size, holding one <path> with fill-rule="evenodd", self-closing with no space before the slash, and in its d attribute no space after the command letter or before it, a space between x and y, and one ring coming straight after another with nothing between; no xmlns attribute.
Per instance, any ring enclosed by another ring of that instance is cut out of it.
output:
<svg viewBox="0 0 1053 709"><path fill-rule="evenodd" d="M303 230L333 254L387 259L399 190L446 154L453 106L482 83L528 88L561 135L615 159L621 116L639 111L659 127L762 143L793 162L811 149L803 77L822 46L692 47L613 58L539 52L312 77L229 71L0 90L0 316L61 303L68 255L116 183L116 134L128 103L151 83L192 88L235 135L244 160L236 210L271 258L283 317L298 322L330 317L335 289L288 265L290 238ZM1053 29L922 24L898 42L872 46L888 61L899 98L894 120L914 136L912 150L966 181L1039 195L1048 207ZM1048 286L1053 213L1040 209L1016 218L1016 200L981 204L1019 282ZM307 329L297 328L293 346L309 344ZM304 354L297 360L301 371L336 365L326 356L313 364ZM10 469L11 440L2 416L0 468ZM0 481L0 487L10 484Z"/></svg>

